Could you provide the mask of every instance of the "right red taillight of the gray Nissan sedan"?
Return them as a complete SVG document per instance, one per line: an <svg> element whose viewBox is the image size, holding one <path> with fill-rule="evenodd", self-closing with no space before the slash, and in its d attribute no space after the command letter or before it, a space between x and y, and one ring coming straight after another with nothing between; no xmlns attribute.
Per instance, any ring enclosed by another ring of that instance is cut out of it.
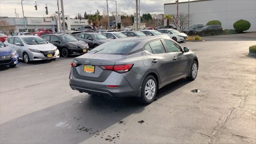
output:
<svg viewBox="0 0 256 144"><path fill-rule="evenodd" d="M100 66L103 70L112 70L118 73L124 73L131 70L133 64L120 64L120 65L111 65L111 66Z"/></svg>

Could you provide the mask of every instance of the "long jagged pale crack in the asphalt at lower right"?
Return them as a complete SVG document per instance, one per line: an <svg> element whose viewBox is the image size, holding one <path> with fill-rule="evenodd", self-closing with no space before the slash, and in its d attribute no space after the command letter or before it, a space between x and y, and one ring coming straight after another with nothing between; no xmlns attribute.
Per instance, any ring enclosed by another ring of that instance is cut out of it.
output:
<svg viewBox="0 0 256 144"><path fill-rule="evenodd" d="M233 107L233 108L230 110L229 114L226 116L224 122L218 124L218 125L213 129L213 132L212 132L212 133L210 134L210 136L209 136L210 141L208 142L208 144L211 144L212 141L213 141L213 139L214 139L214 138L216 137L216 135L218 134L218 132L219 132L222 128L224 128L224 127L226 126L226 124L227 124L227 122L228 122L228 120L229 120L231 114L234 112L234 110L236 110L237 108L243 108L243 107L244 107L244 103L245 103L246 98L247 98L247 96L245 95L245 93L249 90L249 88L250 88L250 86L252 86L252 84L254 84L254 82L252 82L252 83L250 83L248 86L244 86L244 88L242 88L242 89L245 89L245 90L244 90L242 96L240 96L241 101L239 102L238 106ZM241 91L242 91L242 90L241 90ZM240 91L240 92L241 92L241 91ZM239 92L239 93L240 93L240 92ZM242 103L243 103L243 104L242 104ZM219 120L221 120L221 119L222 119L222 118L220 118ZM219 120L218 120L218 121L219 121ZM220 126L220 128L218 128L219 126ZM218 129L217 129L217 128L218 128ZM243 137L243 138L248 138L248 137L245 137L245 136L234 135L234 134L232 134L232 136L239 136L239 137Z"/></svg>

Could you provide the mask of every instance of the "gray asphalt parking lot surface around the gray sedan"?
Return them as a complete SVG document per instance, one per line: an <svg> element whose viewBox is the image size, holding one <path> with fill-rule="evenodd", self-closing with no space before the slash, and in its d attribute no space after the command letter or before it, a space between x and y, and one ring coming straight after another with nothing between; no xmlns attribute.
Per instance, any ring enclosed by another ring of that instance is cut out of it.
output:
<svg viewBox="0 0 256 144"><path fill-rule="evenodd" d="M181 43L198 54L196 80L165 86L147 106L72 90L72 58L1 68L0 143L255 144L256 38L204 39Z"/></svg>

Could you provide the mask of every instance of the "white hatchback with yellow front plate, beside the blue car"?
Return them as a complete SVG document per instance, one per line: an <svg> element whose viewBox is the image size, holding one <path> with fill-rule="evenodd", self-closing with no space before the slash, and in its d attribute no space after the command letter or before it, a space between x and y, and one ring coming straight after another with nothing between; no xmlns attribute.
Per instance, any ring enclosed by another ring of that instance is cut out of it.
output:
<svg viewBox="0 0 256 144"><path fill-rule="evenodd" d="M16 50L19 58L26 63L32 60L56 60L60 57L58 48L39 36L12 36L4 44Z"/></svg>

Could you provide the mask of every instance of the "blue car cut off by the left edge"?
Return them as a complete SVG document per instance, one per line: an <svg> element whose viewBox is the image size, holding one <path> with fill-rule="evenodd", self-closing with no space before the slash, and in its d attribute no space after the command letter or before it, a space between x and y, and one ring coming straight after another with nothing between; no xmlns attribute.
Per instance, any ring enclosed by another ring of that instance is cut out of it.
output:
<svg viewBox="0 0 256 144"><path fill-rule="evenodd" d="M19 63L19 56L15 50L0 42L0 66L14 67Z"/></svg>

